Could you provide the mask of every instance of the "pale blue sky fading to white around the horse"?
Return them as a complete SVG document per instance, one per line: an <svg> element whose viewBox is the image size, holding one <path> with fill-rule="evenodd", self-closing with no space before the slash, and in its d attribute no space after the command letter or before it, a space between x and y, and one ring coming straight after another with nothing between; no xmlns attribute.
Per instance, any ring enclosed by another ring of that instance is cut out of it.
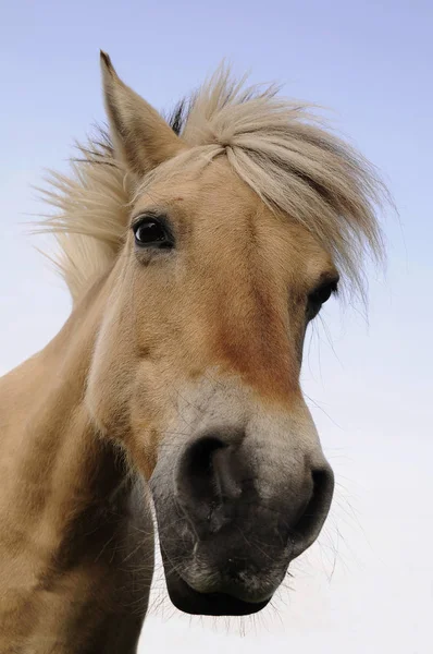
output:
<svg viewBox="0 0 433 654"><path fill-rule="evenodd" d="M1 23L0 373L42 348L70 311L23 223L44 211L30 190L42 168L65 170L73 140L103 119L99 48L159 109L223 57L331 108L399 211L384 216L388 267L371 271L368 322L333 301L306 355L304 388L337 477L319 543L273 608L227 622L190 619L166 601L140 651L431 652L432 3L3 0Z"/></svg>

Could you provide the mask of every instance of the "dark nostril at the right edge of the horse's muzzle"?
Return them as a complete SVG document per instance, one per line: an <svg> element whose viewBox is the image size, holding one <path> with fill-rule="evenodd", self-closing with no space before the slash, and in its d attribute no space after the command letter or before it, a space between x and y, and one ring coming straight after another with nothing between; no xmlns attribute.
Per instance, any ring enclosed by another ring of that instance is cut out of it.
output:
<svg viewBox="0 0 433 654"><path fill-rule="evenodd" d="M299 556L318 537L331 507L334 492L334 474L331 468L311 472L312 493L305 511L292 528L293 556Z"/></svg>

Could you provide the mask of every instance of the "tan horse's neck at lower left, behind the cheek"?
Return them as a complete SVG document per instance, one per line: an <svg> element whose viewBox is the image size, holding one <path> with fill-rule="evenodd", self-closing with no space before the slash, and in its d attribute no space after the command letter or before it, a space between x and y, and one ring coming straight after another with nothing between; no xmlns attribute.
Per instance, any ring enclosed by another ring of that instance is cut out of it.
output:
<svg viewBox="0 0 433 654"><path fill-rule="evenodd" d="M136 537L128 534L136 522L134 485L119 451L96 433L84 401L103 295L100 282L42 352L0 382L0 634L7 638L4 644L14 639L21 644L23 638L33 645L47 638L61 652L63 640L90 642L101 625L83 616L77 621L78 639L71 632L67 610L79 614L87 607L91 613L94 603L102 598L107 615L115 615L110 601L116 572L108 579L107 568L126 536L123 556L129 541L137 547ZM138 526L150 530L146 517L138 519ZM125 580L116 580L114 586L117 582ZM146 598L146 589L141 591ZM86 619L91 622L88 634Z"/></svg>

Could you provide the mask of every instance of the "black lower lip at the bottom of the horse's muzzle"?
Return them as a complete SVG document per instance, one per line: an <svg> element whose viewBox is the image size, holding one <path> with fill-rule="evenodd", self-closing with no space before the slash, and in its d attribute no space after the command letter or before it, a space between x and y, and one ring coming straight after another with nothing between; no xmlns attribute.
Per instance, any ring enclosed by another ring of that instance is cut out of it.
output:
<svg viewBox="0 0 433 654"><path fill-rule="evenodd" d="M170 600L180 610L200 616L248 616L267 606L271 596L261 602L245 602L226 593L199 593L172 571L166 579Z"/></svg>

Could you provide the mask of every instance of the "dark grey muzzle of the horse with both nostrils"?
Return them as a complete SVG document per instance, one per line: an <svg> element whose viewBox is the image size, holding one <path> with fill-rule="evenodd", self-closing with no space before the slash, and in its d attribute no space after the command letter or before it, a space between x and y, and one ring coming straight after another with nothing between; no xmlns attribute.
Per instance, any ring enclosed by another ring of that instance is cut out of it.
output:
<svg viewBox="0 0 433 654"><path fill-rule="evenodd" d="M264 474L265 448L247 440L226 428L200 434L177 459L172 497L154 488L169 593L186 613L263 608L326 518L334 480L324 460Z"/></svg>

